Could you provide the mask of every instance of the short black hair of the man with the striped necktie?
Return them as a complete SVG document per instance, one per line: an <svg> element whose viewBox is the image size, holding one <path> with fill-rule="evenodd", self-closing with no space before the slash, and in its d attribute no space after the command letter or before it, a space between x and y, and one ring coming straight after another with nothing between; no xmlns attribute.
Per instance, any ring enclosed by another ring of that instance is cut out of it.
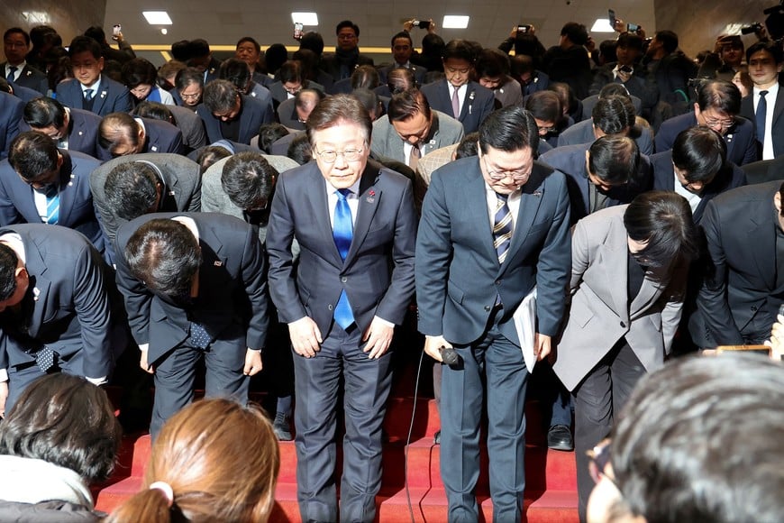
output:
<svg viewBox="0 0 784 523"><path fill-rule="evenodd" d="M479 125L479 149L520 151L526 147L536 156L539 151L539 129L533 115L521 106L506 106L494 111Z"/></svg>

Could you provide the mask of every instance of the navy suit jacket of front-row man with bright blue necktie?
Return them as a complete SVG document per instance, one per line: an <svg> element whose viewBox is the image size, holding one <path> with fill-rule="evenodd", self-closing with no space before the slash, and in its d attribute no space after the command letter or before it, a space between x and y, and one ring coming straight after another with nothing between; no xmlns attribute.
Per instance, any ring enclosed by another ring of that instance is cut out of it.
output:
<svg viewBox="0 0 784 523"><path fill-rule="evenodd" d="M414 294L416 214L411 182L368 161L353 241L342 261L333 240L324 177L315 162L280 176L267 226L269 293L286 323L311 317L322 335L346 291L360 332L374 316L400 325ZM300 245L292 267L291 243Z"/></svg>

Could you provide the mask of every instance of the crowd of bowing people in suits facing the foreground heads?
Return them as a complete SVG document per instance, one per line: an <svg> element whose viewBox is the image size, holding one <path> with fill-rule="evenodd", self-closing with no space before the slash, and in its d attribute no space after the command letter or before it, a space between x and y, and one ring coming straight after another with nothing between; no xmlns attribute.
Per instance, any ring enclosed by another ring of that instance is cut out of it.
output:
<svg viewBox="0 0 784 523"><path fill-rule="evenodd" d="M721 36L697 63L674 32L616 30L491 49L431 21L416 51L408 22L376 67L347 20L333 53L317 32L292 56L243 37L223 62L178 41L156 68L122 33L66 50L8 29L0 414L60 371L123 385L131 427L151 380L171 445L200 362L205 395L241 403L263 368L303 520L371 521L392 349L424 344L450 521L479 517L483 419L495 518L523 517L533 396L548 446L576 450L580 518L601 520L589 455L637 382L761 344L784 303L780 42ZM176 468L148 480L114 520L178 503Z"/></svg>

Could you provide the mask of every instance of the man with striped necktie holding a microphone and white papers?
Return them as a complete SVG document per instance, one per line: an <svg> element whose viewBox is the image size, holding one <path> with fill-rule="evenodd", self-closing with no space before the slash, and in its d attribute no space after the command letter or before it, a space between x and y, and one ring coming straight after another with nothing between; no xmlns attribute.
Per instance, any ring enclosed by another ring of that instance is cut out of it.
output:
<svg viewBox="0 0 784 523"><path fill-rule="evenodd" d="M528 373L515 309L535 287L533 356L551 351L571 267L564 175L533 158L533 115L508 106L479 127L479 157L433 173L416 243L416 301L424 351L443 367L441 475L450 521L479 518L479 421L488 394L488 454L494 520L520 521ZM532 347L523 347L531 351Z"/></svg>

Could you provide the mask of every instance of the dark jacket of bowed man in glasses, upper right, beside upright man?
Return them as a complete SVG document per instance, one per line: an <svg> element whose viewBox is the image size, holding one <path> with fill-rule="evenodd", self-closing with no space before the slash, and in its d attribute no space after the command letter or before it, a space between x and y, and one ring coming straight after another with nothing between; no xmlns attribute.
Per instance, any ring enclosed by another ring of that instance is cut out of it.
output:
<svg viewBox="0 0 784 523"><path fill-rule="evenodd" d="M654 142L656 152L670 151L678 134L695 125L697 125L697 116L694 112L665 120L656 133ZM757 161L757 137L751 121L741 116L737 117L736 123L723 138L727 144L727 160L735 165Z"/></svg>

